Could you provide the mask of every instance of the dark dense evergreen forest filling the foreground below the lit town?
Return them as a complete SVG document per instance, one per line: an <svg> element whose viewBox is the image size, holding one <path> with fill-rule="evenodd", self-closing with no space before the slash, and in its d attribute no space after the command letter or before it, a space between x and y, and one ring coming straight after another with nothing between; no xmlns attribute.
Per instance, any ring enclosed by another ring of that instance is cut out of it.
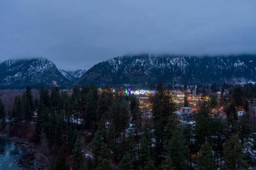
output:
<svg viewBox="0 0 256 170"><path fill-rule="evenodd" d="M7 131L9 124L10 135L46 145L53 170L247 169L256 149L251 113L256 85L197 86L194 90L210 100L200 100L193 122L175 114L170 88L154 86L150 118L143 117L137 97L122 88L113 92L106 85L99 91L92 83L68 94L41 87L34 100L28 86L15 97L13 110L6 113L0 100L1 129ZM224 113L212 113L220 107ZM238 110L245 112L238 115Z"/></svg>

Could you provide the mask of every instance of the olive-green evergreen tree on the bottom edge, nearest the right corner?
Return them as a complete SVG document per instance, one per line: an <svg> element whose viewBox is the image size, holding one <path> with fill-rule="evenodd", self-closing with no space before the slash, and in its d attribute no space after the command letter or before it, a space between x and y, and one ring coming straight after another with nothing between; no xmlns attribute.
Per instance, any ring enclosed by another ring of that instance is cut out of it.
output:
<svg viewBox="0 0 256 170"><path fill-rule="evenodd" d="M244 159L243 147L236 135L224 143L224 170L246 170L247 162Z"/></svg>

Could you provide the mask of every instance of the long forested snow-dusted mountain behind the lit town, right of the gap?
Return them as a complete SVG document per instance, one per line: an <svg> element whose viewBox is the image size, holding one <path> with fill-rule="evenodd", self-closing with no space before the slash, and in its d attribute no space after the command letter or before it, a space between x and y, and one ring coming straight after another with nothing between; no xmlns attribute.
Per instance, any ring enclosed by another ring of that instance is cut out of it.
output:
<svg viewBox="0 0 256 170"><path fill-rule="evenodd" d="M132 55L100 62L78 80L99 85L140 83L210 83L233 77L256 80L256 55L196 57L186 55Z"/></svg>

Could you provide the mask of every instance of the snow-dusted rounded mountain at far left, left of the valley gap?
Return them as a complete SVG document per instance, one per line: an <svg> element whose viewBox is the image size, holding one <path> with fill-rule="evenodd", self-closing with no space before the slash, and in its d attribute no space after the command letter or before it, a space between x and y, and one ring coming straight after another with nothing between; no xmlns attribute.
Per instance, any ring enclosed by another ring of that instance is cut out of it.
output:
<svg viewBox="0 0 256 170"><path fill-rule="evenodd" d="M0 88L51 86L55 81L60 87L69 86L74 79L66 77L56 65L43 58L6 60L0 62Z"/></svg>

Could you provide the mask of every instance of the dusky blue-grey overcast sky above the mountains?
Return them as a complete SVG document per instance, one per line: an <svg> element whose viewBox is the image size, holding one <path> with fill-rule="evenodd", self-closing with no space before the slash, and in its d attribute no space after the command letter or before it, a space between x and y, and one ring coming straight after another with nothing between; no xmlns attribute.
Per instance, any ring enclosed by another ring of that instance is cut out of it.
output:
<svg viewBox="0 0 256 170"><path fill-rule="evenodd" d="M0 60L256 53L256 0L0 0Z"/></svg>

